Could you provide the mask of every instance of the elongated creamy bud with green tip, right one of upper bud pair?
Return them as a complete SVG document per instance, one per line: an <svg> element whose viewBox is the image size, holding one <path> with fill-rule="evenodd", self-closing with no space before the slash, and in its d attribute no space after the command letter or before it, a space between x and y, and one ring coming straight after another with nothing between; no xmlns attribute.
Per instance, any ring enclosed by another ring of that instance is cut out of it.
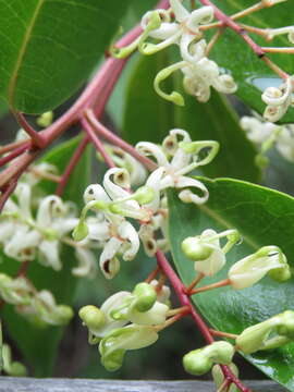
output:
<svg viewBox="0 0 294 392"><path fill-rule="evenodd" d="M233 289L242 290L257 283L267 273L278 282L291 278L285 255L277 246L264 246L255 254L235 262L230 268L228 277Z"/></svg>

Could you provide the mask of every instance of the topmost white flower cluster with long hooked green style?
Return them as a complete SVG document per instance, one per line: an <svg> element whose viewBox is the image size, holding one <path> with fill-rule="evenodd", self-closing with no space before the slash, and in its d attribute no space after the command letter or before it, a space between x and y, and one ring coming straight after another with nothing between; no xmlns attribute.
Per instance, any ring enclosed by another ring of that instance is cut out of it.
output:
<svg viewBox="0 0 294 392"><path fill-rule="evenodd" d="M167 94L160 88L160 83L177 70L183 73L184 89L200 102L208 101L211 87L225 94L235 93L233 77L221 72L218 64L207 58L207 42L200 27L212 20L212 7L189 12L180 0L170 0L170 10L149 11L143 16L144 33L135 44L121 50L114 48L112 53L127 56L137 47L143 54L154 54L171 45L179 46L182 60L158 73L155 88L162 98L180 106L184 105L182 95L176 91ZM148 41L148 38L159 42Z"/></svg>

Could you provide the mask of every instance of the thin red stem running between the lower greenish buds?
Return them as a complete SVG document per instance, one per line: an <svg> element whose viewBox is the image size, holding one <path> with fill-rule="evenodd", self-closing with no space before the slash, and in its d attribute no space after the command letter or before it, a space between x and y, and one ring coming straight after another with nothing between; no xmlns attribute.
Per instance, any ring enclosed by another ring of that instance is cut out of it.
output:
<svg viewBox="0 0 294 392"><path fill-rule="evenodd" d="M207 324L205 323L205 321L203 320L200 315L198 315L194 305L191 303L188 295L185 293L185 290L186 290L185 285L182 283L182 281L177 277L177 274L174 272L174 270L170 266L164 254L162 252L158 250L156 254L156 257L157 257L158 266L161 268L162 272L164 272L166 275L168 277L168 279L170 280L182 306L188 307L188 309L189 309L188 313L193 317L195 323L197 324L200 333L203 334L203 336L205 338L207 343L208 344L213 343L215 339L213 339L212 334L210 333L209 328L207 327ZM220 367L222 369L223 376L228 380L233 382L240 389L240 391L252 392L248 388L243 385L243 383L240 381L240 379L234 376L234 373L231 371L231 369L228 366L220 365Z"/></svg>

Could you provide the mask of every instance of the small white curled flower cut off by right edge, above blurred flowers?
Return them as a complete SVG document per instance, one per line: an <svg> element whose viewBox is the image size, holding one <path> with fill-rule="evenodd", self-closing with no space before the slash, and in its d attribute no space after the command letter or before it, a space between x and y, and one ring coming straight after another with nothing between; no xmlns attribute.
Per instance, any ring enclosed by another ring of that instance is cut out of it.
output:
<svg viewBox="0 0 294 392"><path fill-rule="evenodd" d="M268 87L261 98L267 103L264 118L267 121L279 121L287 111L290 106L294 105L293 98L293 76L287 77L279 87Z"/></svg>

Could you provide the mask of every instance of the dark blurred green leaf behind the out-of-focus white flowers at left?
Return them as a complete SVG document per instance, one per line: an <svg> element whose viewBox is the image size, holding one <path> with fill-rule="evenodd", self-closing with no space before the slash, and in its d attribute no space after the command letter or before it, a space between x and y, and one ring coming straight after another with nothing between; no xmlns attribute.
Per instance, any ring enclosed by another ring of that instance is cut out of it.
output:
<svg viewBox="0 0 294 392"><path fill-rule="evenodd" d="M70 160L73 151L77 147L79 138L63 143L50 151L42 160L56 164L60 173ZM84 154L78 166L75 168L64 193L64 199L75 201L81 206L83 201L83 192L89 182L89 150ZM56 184L44 181L41 187L46 193L53 193ZM13 259L1 255L4 262L1 265L1 271L15 275L20 264ZM63 268L56 272L49 267L42 267L33 261L28 268L28 278L38 290L50 290L58 303L72 305L77 279L71 273L75 265L74 253L68 246L62 247L61 259ZM33 367L33 373L36 377L48 377L52 373L57 350L64 332L64 328L48 327L38 329L28 323L23 317L14 311L12 306L3 307L2 320L9 334L15 341L17 347L24 355L25 360Z"/></svg>

